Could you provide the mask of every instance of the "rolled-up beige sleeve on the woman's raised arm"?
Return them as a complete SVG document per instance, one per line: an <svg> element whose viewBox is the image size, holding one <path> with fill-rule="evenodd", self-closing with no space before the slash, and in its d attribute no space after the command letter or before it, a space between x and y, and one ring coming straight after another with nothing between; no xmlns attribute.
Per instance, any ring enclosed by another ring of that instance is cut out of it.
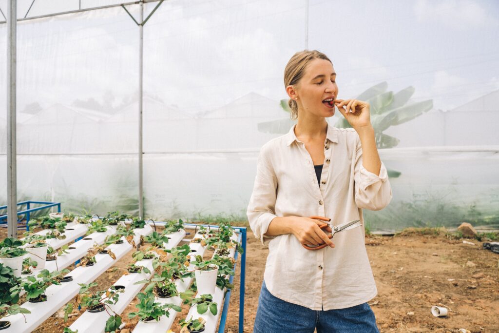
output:
<svg viewBox="0 0 499 333"><path fill-rule="evenodd" d="M381 162L379 176L368 171L362 165L362 146L357 142L355 156L355 203L357 207L369 210L381 210L392 200L392 187L388 181L388 171Z"/></svg>

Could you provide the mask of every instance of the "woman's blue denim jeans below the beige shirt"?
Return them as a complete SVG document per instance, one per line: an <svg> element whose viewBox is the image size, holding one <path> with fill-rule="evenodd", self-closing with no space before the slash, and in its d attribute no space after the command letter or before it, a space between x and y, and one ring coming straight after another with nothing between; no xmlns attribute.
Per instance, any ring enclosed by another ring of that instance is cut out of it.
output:
<svg viewBox="0 0 499 333"><path fill-rule="evenodd" d="M379 333L367 303L351 308L315 311L283 301L261 285L253 333Z"/></svg>

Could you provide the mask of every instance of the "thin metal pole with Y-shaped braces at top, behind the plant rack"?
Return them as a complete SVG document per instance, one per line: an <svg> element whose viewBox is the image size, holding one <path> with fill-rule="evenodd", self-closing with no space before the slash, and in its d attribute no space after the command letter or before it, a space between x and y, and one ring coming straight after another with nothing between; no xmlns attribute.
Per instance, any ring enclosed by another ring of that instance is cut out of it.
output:
<svg viewBox="0 0 499 333"><path fill-rule="evenodd" d="M144 184L142 177L142 77L143 77L143 55L144 55L144 2L140 1L140 46L139 46L139 218L144 218Z"/></svg>

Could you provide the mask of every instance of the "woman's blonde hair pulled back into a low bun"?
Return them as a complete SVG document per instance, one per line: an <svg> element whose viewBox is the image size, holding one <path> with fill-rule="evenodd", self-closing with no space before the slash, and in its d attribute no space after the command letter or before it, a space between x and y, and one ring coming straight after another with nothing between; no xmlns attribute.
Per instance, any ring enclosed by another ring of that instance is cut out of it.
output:
<svg viewBox="0 0 499 333"><path fill-rule="evenodd" d="M303 77L308 63L313 59L324 59L332 64L332 61L329 60L327 55L317 50L296 52L287 62L286 68L284 68L284 87L297 84ZM289 105L289 108L291 108L291 119L297 119L298 104L294 99L289 99L287 104Z"/></svg>

